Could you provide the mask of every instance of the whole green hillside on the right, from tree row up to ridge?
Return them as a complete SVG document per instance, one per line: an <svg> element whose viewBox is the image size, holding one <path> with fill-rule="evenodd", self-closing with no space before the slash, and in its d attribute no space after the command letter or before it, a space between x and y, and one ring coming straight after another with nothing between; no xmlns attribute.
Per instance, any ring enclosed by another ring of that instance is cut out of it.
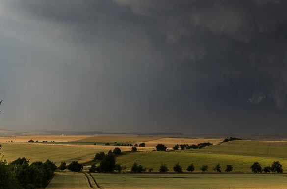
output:
<svg viewBox="0 0 287 189"><path fill-rule="evenodd" d="M186 171L188 165L195 165L195 172L200 172L201 165L212 167L221 164L222 169L227 164L234 167L233 172L250 172L250 166L258 161L262 166L280 161L283 169L287 169L287 142L268 141L231 141L220 145L212 145L203 149L177 150L174 152L126 152L117 158L118 163L126 165L130 170L134 162L147 169L158 171L161 163L166 164L173 172L173 166L179 162Z"/></svg>

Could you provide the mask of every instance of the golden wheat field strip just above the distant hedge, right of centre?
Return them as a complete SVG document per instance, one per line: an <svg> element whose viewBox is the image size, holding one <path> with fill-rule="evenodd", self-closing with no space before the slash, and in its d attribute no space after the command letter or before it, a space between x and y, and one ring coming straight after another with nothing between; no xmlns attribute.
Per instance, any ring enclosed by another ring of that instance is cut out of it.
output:
<svg viewBox="0 0 287 189"><path fill-rule="evenodd" d="M199 144L204 142L210 142L213 144L218 144L222 142L223 139L191 139L191 138L161 138L152 141L147 141L146 147L155 147L157 144L162 143L168 148L172 148L176 144Z"/></svg>

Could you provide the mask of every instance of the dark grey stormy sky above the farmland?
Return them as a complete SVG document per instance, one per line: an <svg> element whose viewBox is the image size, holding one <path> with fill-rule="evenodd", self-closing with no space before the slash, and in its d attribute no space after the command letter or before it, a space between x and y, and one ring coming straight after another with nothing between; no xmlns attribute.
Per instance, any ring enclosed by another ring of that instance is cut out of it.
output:
<svg viewBox="0 0 287 189"><path fill-rule="evenodd" d="M0 128L287 132L287 1L0 0Z"/></svg>

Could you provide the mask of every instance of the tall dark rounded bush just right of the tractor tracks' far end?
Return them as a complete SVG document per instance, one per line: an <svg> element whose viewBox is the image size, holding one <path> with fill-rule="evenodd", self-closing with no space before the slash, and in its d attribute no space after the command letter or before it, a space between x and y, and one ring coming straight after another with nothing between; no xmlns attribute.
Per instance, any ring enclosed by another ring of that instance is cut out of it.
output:
<svg viewBox="0 0 287 189"><path fill-rule="evenodd" d="M113 153L108 153L104 156L103 160L100 162L100 165L97 167L98 172L111 173L115 170L116 159Z"/></svg>

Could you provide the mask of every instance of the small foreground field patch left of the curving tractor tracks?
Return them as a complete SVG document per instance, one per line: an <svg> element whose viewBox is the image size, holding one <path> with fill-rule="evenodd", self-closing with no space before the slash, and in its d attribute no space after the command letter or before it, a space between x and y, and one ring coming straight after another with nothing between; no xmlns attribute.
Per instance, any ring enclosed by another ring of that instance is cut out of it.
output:
<svg viewBox="0 0 287 189"><path fill-rule="evenodd" d="M46 189L91 189L83 173L55 173Z"/></svg>

